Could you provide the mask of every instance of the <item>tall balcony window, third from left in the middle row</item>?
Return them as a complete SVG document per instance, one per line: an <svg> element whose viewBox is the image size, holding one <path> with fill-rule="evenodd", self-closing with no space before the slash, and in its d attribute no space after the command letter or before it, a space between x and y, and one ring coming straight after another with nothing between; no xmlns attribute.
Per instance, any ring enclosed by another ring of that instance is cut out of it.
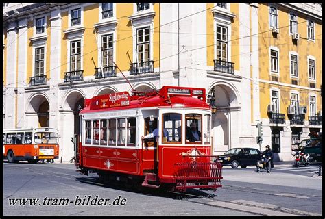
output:
<svg viewBox="0 0 325 219"><path fill-rule="evenodd" d="M113 34L101 37L101 61L102 66L112 66L113 62Z"/></svg>

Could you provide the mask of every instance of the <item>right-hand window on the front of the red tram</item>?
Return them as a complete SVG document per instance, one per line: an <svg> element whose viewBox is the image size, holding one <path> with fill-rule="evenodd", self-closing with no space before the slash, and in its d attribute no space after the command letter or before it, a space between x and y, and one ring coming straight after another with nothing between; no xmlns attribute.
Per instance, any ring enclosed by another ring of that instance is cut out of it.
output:
<svg viewBox="0 0 325 219"><path fill-rule="evenodd" d="M202 115L186 114L185 123L186 144L202 143Z"/></svg>

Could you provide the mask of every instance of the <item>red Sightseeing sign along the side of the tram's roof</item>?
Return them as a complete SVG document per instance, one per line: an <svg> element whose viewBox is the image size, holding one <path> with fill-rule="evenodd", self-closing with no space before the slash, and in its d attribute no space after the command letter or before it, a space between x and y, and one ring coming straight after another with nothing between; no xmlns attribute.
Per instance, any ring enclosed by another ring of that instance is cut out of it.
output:
<svg viewBox="0 0 325 219"><path fill-rule="evenodd" d="M130 105L130 94L128 92L118 92L94 96L91 99L91 110L106 109L110 107L122 107Z"/></svg>

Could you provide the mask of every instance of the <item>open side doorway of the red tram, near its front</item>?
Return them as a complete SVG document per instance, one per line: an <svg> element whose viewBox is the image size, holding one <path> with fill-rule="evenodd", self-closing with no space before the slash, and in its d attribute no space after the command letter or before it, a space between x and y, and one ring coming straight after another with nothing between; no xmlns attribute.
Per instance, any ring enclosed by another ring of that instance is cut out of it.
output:
<svg viewBox="0 0 325 219"><path fill-rule="evenodd" d="M152 133L158 127L158 119L145 118L145 136ZM158 174L158 153L156 138L148 138L143 141L143 162L148 164L148 172Z"/></svg>

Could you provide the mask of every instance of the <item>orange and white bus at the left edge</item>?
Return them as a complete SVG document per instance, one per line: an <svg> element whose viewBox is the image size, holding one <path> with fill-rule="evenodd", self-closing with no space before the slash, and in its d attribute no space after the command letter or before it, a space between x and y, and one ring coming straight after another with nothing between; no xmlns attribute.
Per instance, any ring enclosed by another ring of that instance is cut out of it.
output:
<svg viewBox="0 0 325 219"><path fill-rule="evenodd" d="M3 157L9 163L27 160L58 159L58 129L49 127L3 130Z"/></svg>

